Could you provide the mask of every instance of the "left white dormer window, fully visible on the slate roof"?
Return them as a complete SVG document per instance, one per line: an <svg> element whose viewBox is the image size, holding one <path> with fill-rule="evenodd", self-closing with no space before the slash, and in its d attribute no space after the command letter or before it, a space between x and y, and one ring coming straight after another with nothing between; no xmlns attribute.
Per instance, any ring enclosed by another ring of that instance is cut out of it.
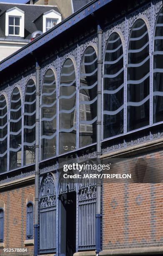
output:
<svg viewBox="0 0 163 256"><path fill-rule="evenodd" d="M24 11L14 7L6 11L5 36L24 37Z"/></svg>

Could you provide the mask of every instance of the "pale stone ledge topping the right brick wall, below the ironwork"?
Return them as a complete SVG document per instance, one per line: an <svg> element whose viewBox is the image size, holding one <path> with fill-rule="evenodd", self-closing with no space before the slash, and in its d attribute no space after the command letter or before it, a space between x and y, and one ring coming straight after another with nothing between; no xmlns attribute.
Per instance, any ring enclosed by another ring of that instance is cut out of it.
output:
<svg viewBox="0 0 163 256"><path fill-rule="evenodd" d="M105 159L108 157L119 157L119 158L124 157L125 158L128 156L134 156L136 154L145 153L158 148L163 148L163 138L160 138L155 141L148 141L146 143L142 143L136 146L131 146L128 148L122 148L118 151L113 151L107 154L103 154L102 156L100 156L100 159Z"/></svg>

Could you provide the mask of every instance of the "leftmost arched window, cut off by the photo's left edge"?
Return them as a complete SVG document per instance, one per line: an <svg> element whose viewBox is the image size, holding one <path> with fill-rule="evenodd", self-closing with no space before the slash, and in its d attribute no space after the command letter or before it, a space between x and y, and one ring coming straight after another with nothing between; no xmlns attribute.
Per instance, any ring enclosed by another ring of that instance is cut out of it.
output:
<svg viewBox="0 0 163 256"><path fill-rule="evenodd" d="M0 96L0 172L7 171L7 103L4 95Z"/></svg>

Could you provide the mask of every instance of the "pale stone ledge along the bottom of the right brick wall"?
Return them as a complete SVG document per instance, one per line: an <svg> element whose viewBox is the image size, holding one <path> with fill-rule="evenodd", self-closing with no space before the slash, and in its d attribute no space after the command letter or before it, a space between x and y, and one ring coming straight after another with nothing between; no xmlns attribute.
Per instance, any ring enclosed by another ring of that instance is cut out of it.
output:
<svg viewBox="0 0 163 256"><path fill-rule="evenodd" d="M126 248L126 249L114 249L114 250L104 250L100 251L100 256L110 256L110 255L149 255L149 254L162 254L163 246L153 246L153 247L140 247L140 248Z"/></svg>

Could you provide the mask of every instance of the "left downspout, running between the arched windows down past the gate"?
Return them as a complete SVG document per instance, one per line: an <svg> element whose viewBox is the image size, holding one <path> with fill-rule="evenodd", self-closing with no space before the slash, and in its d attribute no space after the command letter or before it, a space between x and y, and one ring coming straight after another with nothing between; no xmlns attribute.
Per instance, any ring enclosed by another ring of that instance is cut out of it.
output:
<svg viewBox="0 0 163 256"><path fill-rule="evenodd" d="M38 200L39 200L39 123L40 123L40 66L36 61L36 119L35 119L35 225L34 256L38 256Z"/></svg>

